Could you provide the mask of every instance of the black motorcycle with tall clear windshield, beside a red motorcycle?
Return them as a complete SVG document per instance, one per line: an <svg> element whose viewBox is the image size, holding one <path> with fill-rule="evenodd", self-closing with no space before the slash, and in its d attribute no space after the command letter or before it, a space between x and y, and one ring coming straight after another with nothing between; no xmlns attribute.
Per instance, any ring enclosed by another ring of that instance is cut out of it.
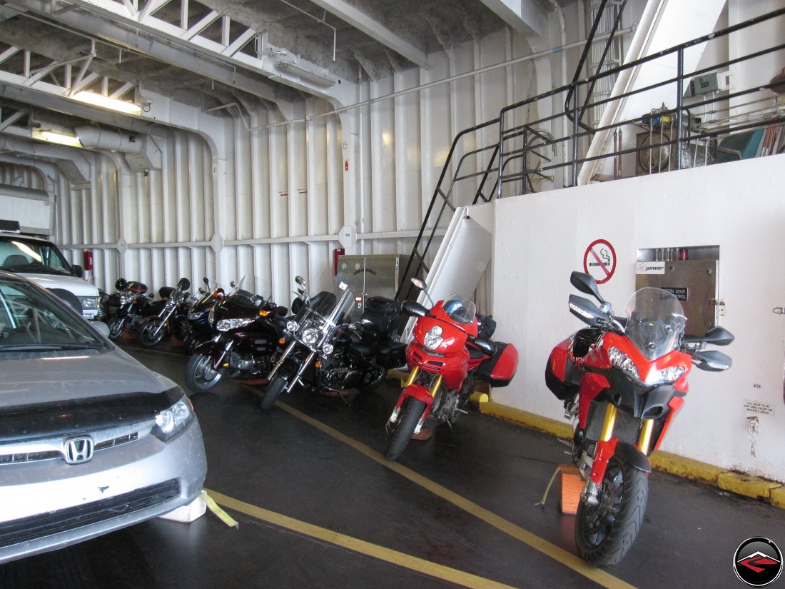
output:
<svg viewBox="0 0 785 589"><path fill-rule="evenodd" d="M281 393L296 384L338 393L371 390L389 368L406 364L406 345L395 335L400 303L369 298L360 321L349 323L355 298L341 275L335 293L323 291L314 298L309 298L301 276L295 280L299 297L292 306L298 313L287 322L288 346L267 377L261 408L272 408Z"/></svg>

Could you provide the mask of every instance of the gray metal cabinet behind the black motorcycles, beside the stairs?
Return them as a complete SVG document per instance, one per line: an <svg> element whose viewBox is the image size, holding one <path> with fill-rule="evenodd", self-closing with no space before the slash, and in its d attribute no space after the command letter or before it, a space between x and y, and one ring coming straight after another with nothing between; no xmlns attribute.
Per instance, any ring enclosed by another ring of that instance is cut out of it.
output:
<svg viewBox="0 0 785 589"><path fill-rule="evenodd" d="M360 318L368 298L395 298L409 257L402 254L350 254L338 256L338 273L349 277L349 287L356 297L352 320Z"/></svg>

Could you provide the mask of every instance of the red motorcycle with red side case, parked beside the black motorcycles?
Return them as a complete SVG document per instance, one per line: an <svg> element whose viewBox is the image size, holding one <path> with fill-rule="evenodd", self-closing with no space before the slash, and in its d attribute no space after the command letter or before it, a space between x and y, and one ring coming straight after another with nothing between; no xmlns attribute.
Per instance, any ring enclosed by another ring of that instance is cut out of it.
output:
<svg viewBox="0 0 785 589"><path fill-rule="evenodd" d="M425 288L419 280L414 284ZM466 413L476 381L507 386L518 365L515 346L491 340L495 321L478 316L474 303L458 294L430 310L414 301L404 301L402 309L418 319L406 349L410 373L387 423L390 460L401 455L429 415L451 425Z"/></svg>

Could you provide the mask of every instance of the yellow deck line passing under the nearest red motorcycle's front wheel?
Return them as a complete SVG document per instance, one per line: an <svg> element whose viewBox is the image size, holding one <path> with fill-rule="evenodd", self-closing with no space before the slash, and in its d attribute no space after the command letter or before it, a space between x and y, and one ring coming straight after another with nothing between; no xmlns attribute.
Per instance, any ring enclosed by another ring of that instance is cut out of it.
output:
<svg viewBox="0 0 785 589"><path fill-rule="evenodd" d="M588 564L575 554L565 551L564 548L560 548L556 544L550 543L548 540L544 540L539 536L536 536L528 530L521 528L519 525L515 525L513 522L507 521L506 519L492 513L484 507L480 507L476 503L469 501L469 499L458 495L458 493L452 492L450 489L443 487L442 485L439 485L426 477L423 477L421 474L414 472L414 470L408 469L406 466L401 466L399 463L386 459L381 453L376 452L374 449L352 439L349 436L346 436L345 434L341 434L341 432L338 430L334 430L330 426L327 426L324 423L309 417L309 415L305 415L305 413L299 412L297 409L292 408L280 401L276 401L276 406L290 413L290 415L294 415L294 417L301 419L305 423L309 423L318 430L323 431L323 433L329 435L330 437L334 437L334 439L341 441L344 444L348 444L357 452L366 455L368 458L375 460L390 470L394 470L396 473L406 477L416 485L420 485L422 488L433 492L435 495L440 496L446 501L449 501L456 507L460 507L462 510L465 510L469 514L474 515L476 518L480 518L482 521L485 521L487 524L494 526L496 529L505 532L509 536L513 536L513 538L520 540L529 547L532 547L535 550L542 552L542 554L553 558L560 564L574 570L575 573L579 573L582 576L585 576L587 579L593 580L595 583L602 585L603 587L612 587L613 589L622 589L623 587L625 589L631 589L634 587L633 585L626 583L626 581L618 579L617 577L606 573L604 570L597 569L597 567ZM219 501L218 503L221 502Z"/></svg>

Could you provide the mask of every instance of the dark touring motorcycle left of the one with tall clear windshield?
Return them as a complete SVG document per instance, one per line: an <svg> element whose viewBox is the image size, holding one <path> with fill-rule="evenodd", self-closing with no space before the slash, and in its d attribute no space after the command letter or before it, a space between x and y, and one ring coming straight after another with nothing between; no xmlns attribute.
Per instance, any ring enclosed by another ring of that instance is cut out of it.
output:
<svg viewBox="0 0 785 589"><path fill-rule="evenodd" d="M210 312L215 335L196 347L185 367L185 384L195 393L212 389L224 376L263 379L272 367L287 309L243 288L247 282L233 294L217 294Z"/></svg>

